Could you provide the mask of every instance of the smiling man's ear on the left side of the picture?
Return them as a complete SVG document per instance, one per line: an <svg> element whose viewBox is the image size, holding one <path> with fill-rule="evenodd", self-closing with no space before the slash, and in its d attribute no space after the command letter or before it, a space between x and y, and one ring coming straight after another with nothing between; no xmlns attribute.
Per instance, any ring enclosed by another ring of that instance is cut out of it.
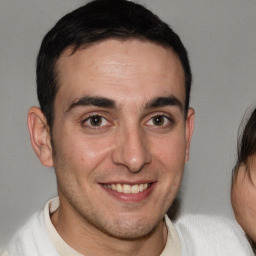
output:
<svg viewBox="0 0 256 256"><path fill-rule="evenodd" d="M28 130L30 141L37 157L44 166L53 165L50 129L46 117L38 107L28 111Z"/></svg>

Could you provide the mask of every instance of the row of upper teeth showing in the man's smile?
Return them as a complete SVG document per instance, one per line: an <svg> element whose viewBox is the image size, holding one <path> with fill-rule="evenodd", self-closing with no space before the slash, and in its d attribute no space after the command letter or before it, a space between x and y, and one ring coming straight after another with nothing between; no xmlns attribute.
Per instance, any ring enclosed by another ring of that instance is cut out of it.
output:
<svg viewBox="0 0 256 256"><path fill-rule="evenodd" d="M149 187L149 183L144 184L136 184L136 185L129 185L129 184L105 184L104 187L112 190L116 190L120 193L125 194L138 194L146 190Z"/></svg>

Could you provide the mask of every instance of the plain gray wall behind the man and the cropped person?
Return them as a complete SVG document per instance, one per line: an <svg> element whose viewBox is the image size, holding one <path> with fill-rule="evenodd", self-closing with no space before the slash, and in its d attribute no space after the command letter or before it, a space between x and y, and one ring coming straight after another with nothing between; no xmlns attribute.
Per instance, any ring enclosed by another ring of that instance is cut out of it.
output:
<svg viewBox="0 0 256 256"><path fill-rule="evenodd" d="M141 0L188 49L196 126L181 188L182 211L232 217L229 190L237 129L256 99L255 0ZM84 1L0 0L0 248L56 195L54 171L29 142L37 105L35 59L44 34Z"/></svg>

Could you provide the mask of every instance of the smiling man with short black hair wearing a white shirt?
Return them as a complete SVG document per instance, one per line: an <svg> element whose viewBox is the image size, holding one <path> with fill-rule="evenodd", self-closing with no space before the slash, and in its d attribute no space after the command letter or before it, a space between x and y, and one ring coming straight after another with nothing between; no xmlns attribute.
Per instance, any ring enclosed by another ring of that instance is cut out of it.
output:
<svg viewBox="0 0 256 256"><path fill-rule="evenodd" d="M144 7L93 1L45 36L32 147L54 166L58 198L4 255L250 255L240 230L165 216L194 126L191 71L179 37Z"/></svg>

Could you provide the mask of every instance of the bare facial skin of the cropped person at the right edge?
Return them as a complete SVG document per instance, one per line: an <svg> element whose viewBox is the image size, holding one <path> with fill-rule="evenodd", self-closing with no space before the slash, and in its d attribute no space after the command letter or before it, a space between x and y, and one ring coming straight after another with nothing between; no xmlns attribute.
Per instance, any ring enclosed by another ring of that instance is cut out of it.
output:
<svg viewBox="0 0 256 256"><path fill-rule="evenodd" d="M231 190L236 219L248 236L256 242L256 155L249 161L249 170L241 165Z"/></svg>

